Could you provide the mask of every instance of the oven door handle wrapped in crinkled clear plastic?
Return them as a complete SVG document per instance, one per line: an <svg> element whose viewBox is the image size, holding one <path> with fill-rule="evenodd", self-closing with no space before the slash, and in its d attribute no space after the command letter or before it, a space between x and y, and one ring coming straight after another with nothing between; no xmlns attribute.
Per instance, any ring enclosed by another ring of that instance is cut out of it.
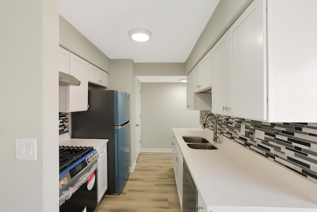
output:
<svg viewBox="0 0 317 212"><path fill-rule="evenodd" d="M65 189L59 195L59 206L63 205L66 200L71 198L71 196L81 187L84 183L87 182L89 177L96 171L98 167L98 162L94 162L87 171L83 172L74 183L71 184L67 189Z"/></svg>

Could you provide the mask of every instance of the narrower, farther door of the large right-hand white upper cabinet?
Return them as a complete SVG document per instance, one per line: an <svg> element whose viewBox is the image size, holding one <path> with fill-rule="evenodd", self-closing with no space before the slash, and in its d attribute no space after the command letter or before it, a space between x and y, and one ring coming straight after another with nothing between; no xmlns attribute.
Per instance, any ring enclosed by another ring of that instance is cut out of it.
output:
<svg viewBox="0 0 317 212"><path fill-rule="evenodd" d="M228 33L226 32L211 49L212 113L232 114L232 78L229 67Z"/></svg>

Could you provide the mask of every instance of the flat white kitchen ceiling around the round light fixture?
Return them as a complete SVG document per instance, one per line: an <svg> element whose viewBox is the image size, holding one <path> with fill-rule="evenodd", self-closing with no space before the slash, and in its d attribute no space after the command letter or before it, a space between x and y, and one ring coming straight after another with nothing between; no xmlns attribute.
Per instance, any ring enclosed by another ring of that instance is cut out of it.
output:
<svg viewBox="0 0 317 212"><path fill-rule="evenodd" d="M184 63L219 0L59 0L59 13L110 59ZM148 42L128 37L152 32Z"/></svg>

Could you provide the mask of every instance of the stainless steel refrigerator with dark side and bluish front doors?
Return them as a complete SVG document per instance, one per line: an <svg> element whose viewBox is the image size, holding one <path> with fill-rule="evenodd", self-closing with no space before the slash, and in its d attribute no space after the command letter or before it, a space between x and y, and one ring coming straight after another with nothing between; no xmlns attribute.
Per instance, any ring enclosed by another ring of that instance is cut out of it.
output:
<svg viewBox="0 0 317 212"><path fill-rule="evenodd" d="M130 94L117 90L89 90L89 108L71 114L72 138L108 139L108 189L119 194L130 166Z"/></svg>

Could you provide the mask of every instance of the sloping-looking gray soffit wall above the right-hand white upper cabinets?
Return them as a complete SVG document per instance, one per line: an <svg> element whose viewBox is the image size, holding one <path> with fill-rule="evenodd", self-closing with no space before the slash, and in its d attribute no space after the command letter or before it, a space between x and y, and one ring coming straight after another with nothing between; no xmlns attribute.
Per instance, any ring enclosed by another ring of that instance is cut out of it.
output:
<svg viewBox="0 0 317 212"><path fill-rule="evenodd" d="M220 0L185 62L189 73L253 0Z"/></svg>

